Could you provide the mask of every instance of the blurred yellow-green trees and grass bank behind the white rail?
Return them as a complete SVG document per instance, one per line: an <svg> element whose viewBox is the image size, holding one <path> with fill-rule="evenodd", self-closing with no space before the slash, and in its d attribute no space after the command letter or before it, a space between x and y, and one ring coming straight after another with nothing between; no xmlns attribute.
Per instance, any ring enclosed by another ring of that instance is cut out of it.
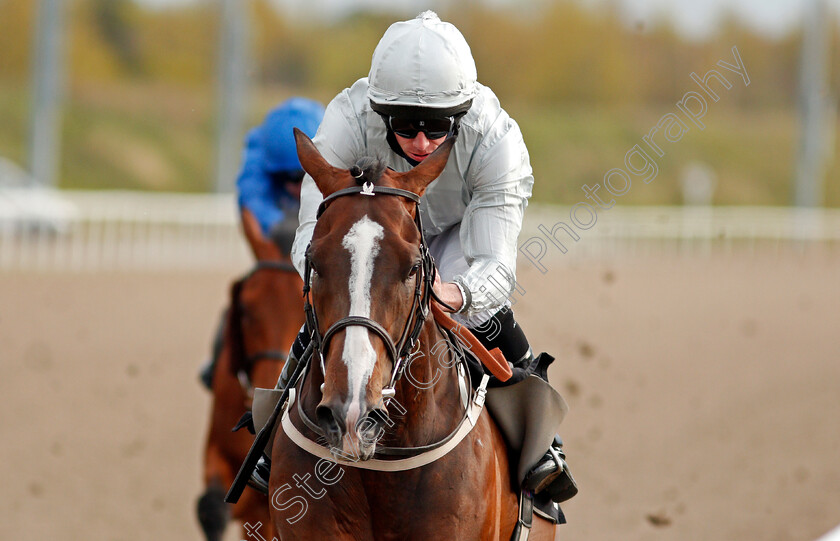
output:
<svg viewBox="0 0 840 541"><path fill-rule="evenodd" d="M245 4L245 2L243 2ZM25 161L35 0L0 0L0 154ZM382 33L404 15L359 12L333 22L292 20L250 0L249 124L278 101L329 101L367 74ZM787 204L796 142L801 36L772 39L728 18L716 35L687 41L665 22L628 24L615 9L555 0L539 10L475 1L441 12L465 34L479 79L521 125L535 199L575 203L580 187L624 155L718 60L738 47L751 79L709 102L706 129L667 145L659 174L622 203L681 201L679 176L695 161L718 175L718 204ZM132 0L75 0L68 10L69 69L62 185L203 191L213 186L216 2L152 10ZM840 89L840 31L832 81ZM718 68L719 69L719 68ZM730 75L730 72L726 72ZM836 95L836 94L835 94ZM692 126L693 127L693 126ZM837 146L837 142L835 142ZM834 156L840 156L836 148ZM840 206L840 163L826 202Z"/></svg>

